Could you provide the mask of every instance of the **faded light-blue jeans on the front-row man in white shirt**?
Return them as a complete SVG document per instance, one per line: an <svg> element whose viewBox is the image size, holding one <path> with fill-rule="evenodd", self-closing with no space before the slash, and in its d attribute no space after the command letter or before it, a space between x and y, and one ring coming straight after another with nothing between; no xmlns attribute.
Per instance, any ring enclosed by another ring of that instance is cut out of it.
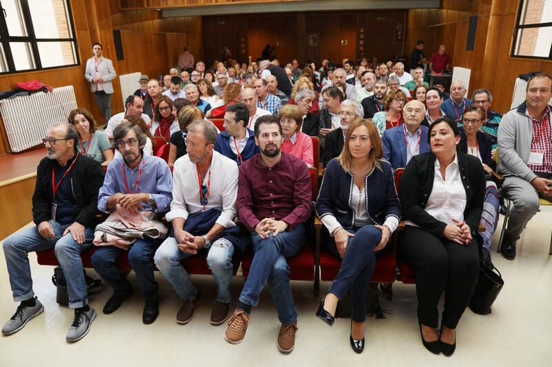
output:
<svg viewBox="0 0 552 367"><path fill-rule="evenodd" d="M179 250L175 237L168 237L155 252L155 266L161 274L172 284L181 299L195 299L197 288L192 283L190 275L181 266L180 261L193 254ZM232 283L232 255L234 246L228 239L220 238L208 249L207 265L217 282L217 300L225 304L232 299L230 284Z"/></svg>

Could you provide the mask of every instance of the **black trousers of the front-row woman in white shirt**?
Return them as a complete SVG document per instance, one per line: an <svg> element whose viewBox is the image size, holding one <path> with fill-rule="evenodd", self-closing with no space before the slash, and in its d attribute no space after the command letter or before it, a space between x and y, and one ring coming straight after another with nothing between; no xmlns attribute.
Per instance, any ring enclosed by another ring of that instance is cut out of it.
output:
<svg viewBox="0 0 552 367"><path fill-rule="evenodd" d="M416 272L420 324L432 328L439 326L437 303L444 292L442 325L456 328L479 274L476 237L469 245L460 245L420 228L406 226L398 241L397 253Z"/></svg>

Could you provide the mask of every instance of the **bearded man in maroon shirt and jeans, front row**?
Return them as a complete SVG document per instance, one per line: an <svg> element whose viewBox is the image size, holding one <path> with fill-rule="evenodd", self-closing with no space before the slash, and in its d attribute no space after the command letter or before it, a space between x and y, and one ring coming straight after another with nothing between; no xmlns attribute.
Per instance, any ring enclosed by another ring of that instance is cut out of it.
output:
<svg viewBox="0 0 552 367"><path fill-rule="evenodd" d="M305 242L303 223L311 217L311 176L303 161L280 151L282 126L273 115L259 117L255 123L255 143L261 152L242 164L236 201L239 220L251 232L255 257L224 339L230 344L244 339L251 308L257 306L268 281L282 322L278 349L290 353L295 345L297 310L286 257L297 254Z"/></svg>

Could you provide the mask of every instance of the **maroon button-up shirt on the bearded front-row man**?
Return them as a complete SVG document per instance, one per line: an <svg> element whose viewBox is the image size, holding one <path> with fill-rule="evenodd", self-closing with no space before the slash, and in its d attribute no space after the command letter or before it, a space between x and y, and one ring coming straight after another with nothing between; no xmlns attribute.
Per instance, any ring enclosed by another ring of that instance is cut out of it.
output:
<svg viewBox="0 0 552 367"><path fill-rule="evenodd" d="M275 166L264 166L260 155L244 161L239 169L237 215L253 232L264 218L289 224L289 230L311 217L311 175L306 164L282 153Z"/></svg>

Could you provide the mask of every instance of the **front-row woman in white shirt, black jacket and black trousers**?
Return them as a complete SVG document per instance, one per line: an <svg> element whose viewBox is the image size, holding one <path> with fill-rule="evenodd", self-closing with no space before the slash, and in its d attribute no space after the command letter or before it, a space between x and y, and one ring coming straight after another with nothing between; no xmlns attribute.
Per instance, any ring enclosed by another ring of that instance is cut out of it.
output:
<svg viewBox="0 0 552 367"><path fill-rule="evenodd" d="M434 121L428 136L431 152L412 157L401 177L406 228L397 256L416 272L422 344L431 353L449 356L479 274L477 226L485 172L479 159L457 151L460 133L451 119ZM437 304L443 293L441 332L437 333Z"/></svg>

